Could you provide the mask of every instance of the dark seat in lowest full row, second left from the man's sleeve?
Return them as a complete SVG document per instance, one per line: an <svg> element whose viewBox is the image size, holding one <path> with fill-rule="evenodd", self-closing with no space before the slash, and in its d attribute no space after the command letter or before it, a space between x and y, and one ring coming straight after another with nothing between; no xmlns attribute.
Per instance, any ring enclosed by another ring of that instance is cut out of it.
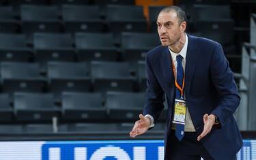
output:
<svg viewBox="0 0 256 160"><path fill-rule="evenodd" d="M65 120L104 121L106 109L100 93L62 93L62 114Z"/></svg>

